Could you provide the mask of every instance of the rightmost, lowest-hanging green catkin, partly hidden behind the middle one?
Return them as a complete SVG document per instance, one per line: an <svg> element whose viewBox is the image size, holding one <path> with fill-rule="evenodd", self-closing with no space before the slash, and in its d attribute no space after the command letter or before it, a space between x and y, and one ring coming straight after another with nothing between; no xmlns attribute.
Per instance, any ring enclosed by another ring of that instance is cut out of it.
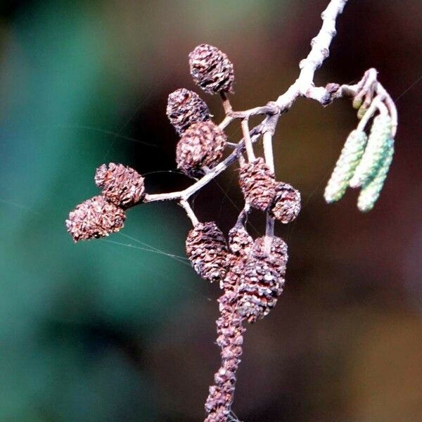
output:
<svg viewBox="0 0 422 422"><path fill-rule="evenodd" d="M388 139L387 149L384 154L381 167L378 169L376 176L364 185L362 191L357 199L357 207L362 212L372 210L376 200L380 196L381 189L385 178L387 177L388 170L392 162L392 155L394 154L394 139Z"/></svg>

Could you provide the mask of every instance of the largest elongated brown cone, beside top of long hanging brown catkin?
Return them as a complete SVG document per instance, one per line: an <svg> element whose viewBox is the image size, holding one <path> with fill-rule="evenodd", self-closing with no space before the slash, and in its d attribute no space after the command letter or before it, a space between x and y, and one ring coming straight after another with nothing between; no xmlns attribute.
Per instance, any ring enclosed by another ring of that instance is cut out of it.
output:
<svg viewBox="0 0 422 422"><path fill-rule="evenodd" d="M243 267L238 300L238 314L250 323L267 315L283 291L286 274L287 245L278 237L257 238Z"/></svg>

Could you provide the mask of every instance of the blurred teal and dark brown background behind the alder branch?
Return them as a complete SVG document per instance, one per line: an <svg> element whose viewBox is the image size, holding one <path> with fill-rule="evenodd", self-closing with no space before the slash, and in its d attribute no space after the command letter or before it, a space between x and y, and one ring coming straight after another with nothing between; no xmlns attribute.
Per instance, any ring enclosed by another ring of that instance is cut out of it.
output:
<svg viewBox="0 0 422 422"><path fill-rule="evenodd" d="M422 419L422 5L349 3L316 83L376 67L397 99L395 160L373 212L357 211L354 192L328 206L324 185L356 124L350 102L299 100L281 118L277 177L302 191L302 213L277 228L290 248L286 289L246 335L241 420ZM183 258L181 208L136 207L121 234L77 245L64 221L96 194L103 162L146 174L150 192L188 186L169 171L177 136L165 117L171 91L198 91L188 52L201 42L224 50L234 108L262 105L298 75L326 4L1 4L0 421L202 420L219 366L219 291ZM200 95L219 121L218 98ZM227 231L242 204L236 185L228 172L207 186L198 217Z"/></svg>

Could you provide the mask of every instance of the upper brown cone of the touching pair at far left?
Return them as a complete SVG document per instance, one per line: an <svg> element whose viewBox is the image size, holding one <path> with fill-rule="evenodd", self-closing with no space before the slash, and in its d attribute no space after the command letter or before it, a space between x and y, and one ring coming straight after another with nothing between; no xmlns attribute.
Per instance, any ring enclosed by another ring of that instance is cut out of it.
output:
<svg viewBox="0 0 422 422"><path fill-rule="evenodd" d="M122 208L130 207L145 196L141 174L122 164L103 164L95 172L95 183L103 188L103 196Z"/></svg>

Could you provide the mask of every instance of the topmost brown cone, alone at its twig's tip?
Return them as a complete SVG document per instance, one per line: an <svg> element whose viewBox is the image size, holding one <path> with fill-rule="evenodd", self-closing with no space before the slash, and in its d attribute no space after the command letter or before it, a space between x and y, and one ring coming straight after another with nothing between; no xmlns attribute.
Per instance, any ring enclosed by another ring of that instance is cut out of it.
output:
<svg viewBox="0 0 422 422"><path fill-rule="evenodd" d="M189 53L193 82L208 94L234 93L233 63L226 54L209 44L200 44Z"/></svg>

